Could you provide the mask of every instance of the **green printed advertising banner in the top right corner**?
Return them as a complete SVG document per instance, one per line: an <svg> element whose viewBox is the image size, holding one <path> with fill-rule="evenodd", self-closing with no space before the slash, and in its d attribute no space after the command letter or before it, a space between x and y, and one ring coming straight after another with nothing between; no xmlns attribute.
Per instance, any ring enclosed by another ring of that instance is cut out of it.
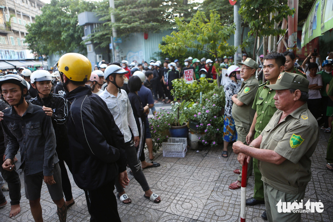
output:
<svg viewBox="0 0 333 222"><path fill-rule="evenodd" d="M333 28L333 0L316 0L302 28L301 47Z"/></svg>

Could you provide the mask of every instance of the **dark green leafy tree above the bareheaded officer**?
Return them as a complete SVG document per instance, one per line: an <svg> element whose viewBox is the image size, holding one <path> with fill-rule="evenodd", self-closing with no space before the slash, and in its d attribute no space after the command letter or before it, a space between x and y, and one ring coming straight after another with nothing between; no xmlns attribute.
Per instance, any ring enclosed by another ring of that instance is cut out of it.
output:
<svg viewBox="0 0 333 222"><path fill-rule="evenodd" d="M250 32L248 35L255 35L253 48L253 58L255 58L256 39L263 37L263 51L266 55L266 37L285 34L286 30L280 29L279 23L282 22L283 18L287 19L288 15L294 14L294 10L285 4L285 0L241 0L238 13L249 24ZM270 19L271 13L272 19Z"/></svg>

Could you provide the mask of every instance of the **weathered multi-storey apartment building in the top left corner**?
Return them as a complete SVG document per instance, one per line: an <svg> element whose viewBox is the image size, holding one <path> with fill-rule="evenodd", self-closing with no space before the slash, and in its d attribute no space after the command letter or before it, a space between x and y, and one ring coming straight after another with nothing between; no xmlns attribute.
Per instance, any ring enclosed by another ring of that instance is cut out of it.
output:
<svg viewBox="0 0 333 222"><path fill-rule="evenodd" d="M44 5L40 0L0 0L0 69L41 64L27 49L25 36L26 26L42 13Z"/></svg>

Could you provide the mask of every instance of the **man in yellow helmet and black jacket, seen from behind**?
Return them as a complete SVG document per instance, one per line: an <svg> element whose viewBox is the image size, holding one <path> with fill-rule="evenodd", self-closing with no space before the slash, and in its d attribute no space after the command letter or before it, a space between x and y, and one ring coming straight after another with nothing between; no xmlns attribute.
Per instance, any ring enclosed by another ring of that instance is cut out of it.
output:
<svg viewBox="0 0 333 222"><path fill-rule="evenodd" d="M90 61L67 53L55 66L72 103L67 123L72 174L86 193L90 221L121 221L113 190L116 179L124 188L129 183L124 136L106 103L85 85L91 75Z"/></svg>

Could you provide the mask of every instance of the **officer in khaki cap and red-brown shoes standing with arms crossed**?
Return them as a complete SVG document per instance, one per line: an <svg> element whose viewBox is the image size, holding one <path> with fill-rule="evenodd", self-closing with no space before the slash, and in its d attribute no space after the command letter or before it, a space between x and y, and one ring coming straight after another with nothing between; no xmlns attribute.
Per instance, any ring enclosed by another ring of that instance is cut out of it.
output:
<svg viewBox="0 0 333 222"><path fill-rule="evenodd" d="M248 134L251 123L255 114L255 110L252 109L255 94L257 93L259 82L255 78L255 71L258 68L256 63L251 58L246 58L244 62L239 62L240 77L244 79L242 86L238 94L234 94L231 99L234 102L232 105L232 117L235 121L236 131L238 140L242 143L246 143L246 135ZM236 172L238 171L238 172ZM234 170L235 173L240 173L237 181L229 185L230 189L239 189L242 181L242 166L240 170ZM252 173L252 162L248 166L247 178L248 180L250 173Z"/></svg>

